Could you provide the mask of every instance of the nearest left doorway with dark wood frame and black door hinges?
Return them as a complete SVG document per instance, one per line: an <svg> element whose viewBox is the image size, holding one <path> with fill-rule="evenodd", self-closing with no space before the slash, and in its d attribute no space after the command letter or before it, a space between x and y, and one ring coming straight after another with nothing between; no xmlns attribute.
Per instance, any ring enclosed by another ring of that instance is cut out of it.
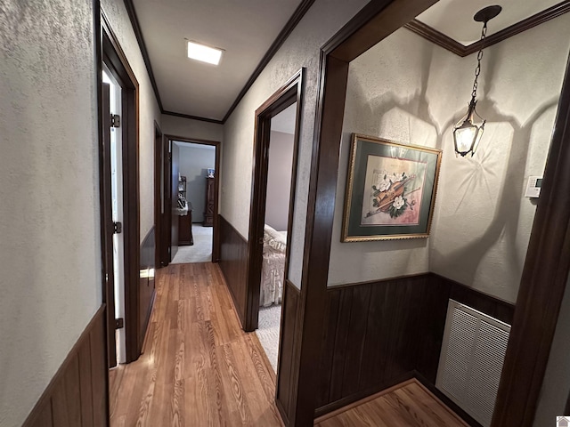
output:
<svg viewBox="0 0 570 427"><path fill-rule="evenodd" d="M102 144L102 240L103 240L103 277L106 280L105 302L107 310L107 341L109 367L117 365L116 329L119 331L120 362L130 363L138 359L141 350L151 305L154 286L147 286L139 278L141 259L140 220L139 220L139 182L138 182L138 82L130 68L116 36L110 29L108 20L102 13L102 68L106 80L114 87L113 109L120 111L111 117L103 108L103 144ZM102 85L107 85L102 83ZM110 86L108 86L110 89ZM103 96L104 98L104 96ZM112 129L112 130L111 130ZM115 142L111 135L115 133ZM111 153L114 151L114 154ZM113 175L122 180L113 183ZM122 181L122 183L120 182ZM113 189L114 187L114 189ZM115 198L115 204L112 200ZM120 216L122 206L122 218ZM116 216L113 217L113 211ZM117 221L122 219L122 221ZM121 234L121 238L116 235ZM113 242L118 242L114 255ZM122 241L123 254L120 254ZM115 258L119 278L115 286ZM118 296L118 310L115 310L115 295ZM117 317L119 316L119 317ZM121 345L124 342L124 345Z"/></svg>

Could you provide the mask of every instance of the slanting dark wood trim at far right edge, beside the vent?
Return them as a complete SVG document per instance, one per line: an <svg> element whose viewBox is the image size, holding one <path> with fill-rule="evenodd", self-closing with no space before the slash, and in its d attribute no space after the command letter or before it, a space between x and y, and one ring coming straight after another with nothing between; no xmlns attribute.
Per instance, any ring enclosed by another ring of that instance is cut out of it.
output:
<svg viewBox="0 0 570 427"><path fill-rule="evenodd" d="M536 412L570 270L569 141L570 57L518 290L493 427L530 426Z"/></svg>

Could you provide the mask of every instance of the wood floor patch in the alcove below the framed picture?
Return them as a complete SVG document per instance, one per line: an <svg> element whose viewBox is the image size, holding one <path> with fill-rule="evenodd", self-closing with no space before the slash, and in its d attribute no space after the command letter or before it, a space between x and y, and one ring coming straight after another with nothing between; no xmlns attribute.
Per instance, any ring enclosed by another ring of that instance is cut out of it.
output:
<svg viewBox="0 0 570 427"><path fill-rule="evenodd" d="M323 415L316 427L467 427L451 409L412 379L347 410Z"/></svg>

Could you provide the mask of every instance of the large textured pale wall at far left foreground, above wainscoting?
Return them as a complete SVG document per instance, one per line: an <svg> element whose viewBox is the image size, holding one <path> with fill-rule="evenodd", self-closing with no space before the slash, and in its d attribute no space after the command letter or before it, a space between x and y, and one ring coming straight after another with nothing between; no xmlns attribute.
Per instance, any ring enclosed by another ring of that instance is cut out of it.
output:
<svg viewBox="0 0 570 427"><path fill-rule="evenodd" d="M0 0L2 426L102 303L96 111L91 2Z"/></svg>

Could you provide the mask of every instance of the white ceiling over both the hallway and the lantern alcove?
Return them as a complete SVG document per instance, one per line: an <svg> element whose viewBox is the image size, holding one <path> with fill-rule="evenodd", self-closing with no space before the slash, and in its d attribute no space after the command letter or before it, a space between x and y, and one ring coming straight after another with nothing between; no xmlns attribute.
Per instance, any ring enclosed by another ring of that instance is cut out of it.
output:
<svg viewBox="0 0 570 427"><path fill-rule="evenodd" d="M268 60L265 54L282 36L281 30L289 27L289 20L295 20L292 17L299 19L312 3L311 0L126 0L134 8L134 23L138 22L141 30L142 49L148 53L164 112L219 123L223 123L248 88L257 66ZM487 35L557 3L560 2L501 0L502 12L489 22ZM570 4L570 0L563 3ZM471 44L481 34L481 23L473 20L473 15L490 4L497 3L440 0L417 20L461 44ZM224 49L221 63L212 66L188 59L187 39Z"/></svg>

